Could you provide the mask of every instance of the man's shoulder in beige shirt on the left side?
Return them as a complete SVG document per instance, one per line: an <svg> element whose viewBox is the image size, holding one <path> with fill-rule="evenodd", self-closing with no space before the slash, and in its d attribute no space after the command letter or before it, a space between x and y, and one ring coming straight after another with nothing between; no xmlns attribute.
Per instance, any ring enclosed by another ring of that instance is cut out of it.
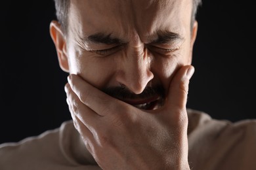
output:
<svg viewBox="0 0 256 170"><path fill-rule="evenodd" d="M18 143L0 144L0 169L47 169L66 160L60 141L74 132L71 121Z"/></svg>

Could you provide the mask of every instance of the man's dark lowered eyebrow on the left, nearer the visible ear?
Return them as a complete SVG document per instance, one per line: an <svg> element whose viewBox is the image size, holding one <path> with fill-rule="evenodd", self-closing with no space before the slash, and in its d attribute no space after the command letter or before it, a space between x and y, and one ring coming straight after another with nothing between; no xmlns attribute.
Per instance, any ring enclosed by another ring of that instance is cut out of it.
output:
<svg viewBox="0 0 256 170"><path fill-rule="evenodd" d="M116 37L112 37L111 33L106 35L104 33L95 33L85 38L85 41L100 44L123 44L124 41Z"/></svg>

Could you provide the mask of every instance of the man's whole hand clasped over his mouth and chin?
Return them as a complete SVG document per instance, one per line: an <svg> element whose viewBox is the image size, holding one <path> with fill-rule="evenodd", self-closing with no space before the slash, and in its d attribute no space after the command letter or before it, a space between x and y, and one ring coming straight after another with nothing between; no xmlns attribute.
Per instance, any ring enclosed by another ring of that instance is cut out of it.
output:
<svg viewBox="0 0 256 170"><path fill-rule="evenodd" d="M193 73L191 65L181 67L156 110L137 109L69 76L65 90L74 126L102 169L190 169L186 99Z"/></svg>

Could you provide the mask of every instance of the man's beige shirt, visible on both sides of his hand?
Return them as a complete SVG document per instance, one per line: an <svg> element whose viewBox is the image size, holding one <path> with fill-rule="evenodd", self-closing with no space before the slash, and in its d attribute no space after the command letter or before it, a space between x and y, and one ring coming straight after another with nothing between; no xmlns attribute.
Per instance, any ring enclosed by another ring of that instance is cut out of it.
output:
<svg viewBox="0 0 256 170"><path fill-rule="evenodd" d="M256 169L256 120L232 123L188 109L188 160L193 170ZM19 143L0 144L0 169L98 169L72 120Z"/></svg>

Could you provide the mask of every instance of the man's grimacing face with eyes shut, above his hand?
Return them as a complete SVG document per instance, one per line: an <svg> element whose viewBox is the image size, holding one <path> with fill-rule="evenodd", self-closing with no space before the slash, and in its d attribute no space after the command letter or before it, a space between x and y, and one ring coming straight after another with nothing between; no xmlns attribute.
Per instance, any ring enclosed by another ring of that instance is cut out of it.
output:
<svg viewBox="0 0 256 170"><path fill-rule="evenodd" d="M66 71L140 109L162 105L175 71L192 60L192 1L70 3Z"/></svg>

